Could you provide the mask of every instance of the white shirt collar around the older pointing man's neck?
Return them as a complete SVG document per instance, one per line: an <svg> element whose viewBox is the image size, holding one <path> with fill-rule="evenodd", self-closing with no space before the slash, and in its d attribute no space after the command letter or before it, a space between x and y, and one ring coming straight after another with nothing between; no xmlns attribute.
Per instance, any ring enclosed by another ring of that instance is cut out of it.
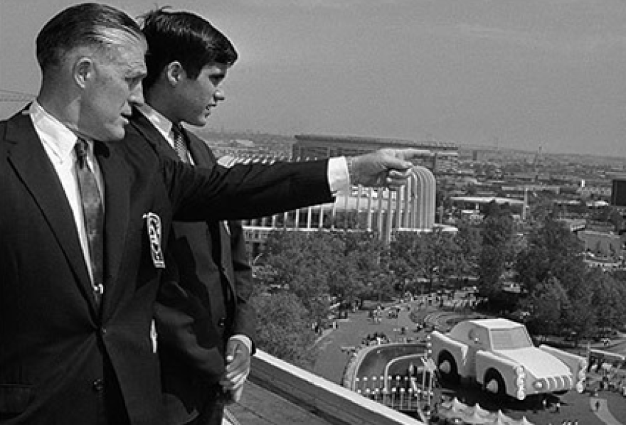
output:
<svg viewBox="0 0 626 425"><path fill-rule="evenodd" d="M43 109L36 100L31 103L28 112L31 114L33 126L41 138L43 145L63 162L73 158L74 146L76 144L76 134L65 127L58 119ZM89 143L90 154L92 154L92 144Z"/></svg>

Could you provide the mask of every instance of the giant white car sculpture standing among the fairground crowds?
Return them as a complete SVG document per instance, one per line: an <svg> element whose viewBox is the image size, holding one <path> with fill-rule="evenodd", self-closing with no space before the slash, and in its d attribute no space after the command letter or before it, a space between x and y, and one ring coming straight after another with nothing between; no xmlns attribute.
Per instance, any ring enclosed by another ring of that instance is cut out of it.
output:
<svg viewBox="0 0 626 425"><path fill-rule="evenodd" d="M523 400L585 388L584 357L548 345L535 347L526 327L508 319L464 321L445 334L435 330L430 345L442 380L475 380L500 397Z"/></svg>

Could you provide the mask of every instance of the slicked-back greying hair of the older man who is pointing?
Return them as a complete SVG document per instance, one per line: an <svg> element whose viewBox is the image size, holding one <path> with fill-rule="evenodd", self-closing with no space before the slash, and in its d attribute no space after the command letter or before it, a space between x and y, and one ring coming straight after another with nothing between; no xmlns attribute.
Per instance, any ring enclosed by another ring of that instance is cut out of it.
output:
<svg viewBox="0 0 626 425"><path fill-rule="evenodd" d="M124 12L105 4L83 3L61 11L43 26L36 41L37 61L46 72L81 46L106 51L143 40L139 24Z"/></svg>

